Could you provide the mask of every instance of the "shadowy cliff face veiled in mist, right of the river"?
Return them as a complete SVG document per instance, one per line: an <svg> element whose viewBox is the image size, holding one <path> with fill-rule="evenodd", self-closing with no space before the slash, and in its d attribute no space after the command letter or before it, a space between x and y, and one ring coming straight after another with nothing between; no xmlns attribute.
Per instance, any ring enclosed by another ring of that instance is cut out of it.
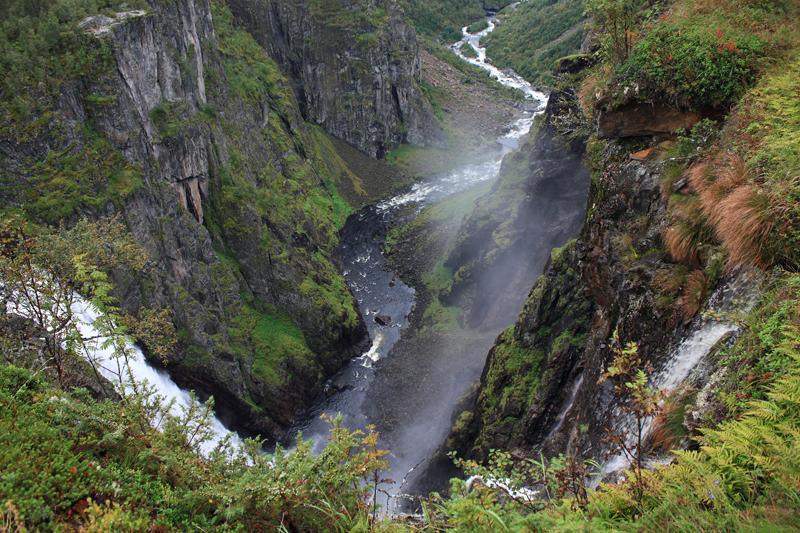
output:
<svg viewBox="0 0 800 533"><path fill-rule="evenodd" d="M503 160L497 183L459 232L446 262L455 274L445 300L469 309L473 327L513 319L550 249L580 229L589 190L585 138L556 123L575 106L572 93L551 95L527 144Z"/></svg>

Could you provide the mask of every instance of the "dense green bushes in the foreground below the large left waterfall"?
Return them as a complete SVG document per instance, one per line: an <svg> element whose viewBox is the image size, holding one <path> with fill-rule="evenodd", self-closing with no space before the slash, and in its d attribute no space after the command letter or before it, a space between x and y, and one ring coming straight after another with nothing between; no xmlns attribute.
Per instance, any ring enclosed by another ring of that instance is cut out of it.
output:
<svg viewBox="0 0 800 533"><path fill-rule="evenodd" d="M208 443L211 404L175 416L146 393L96 401L0 365L0 517L10 531L366 531L377 436L334 423L325 451ZM161 430L151 427L161 420Z"/></svg>

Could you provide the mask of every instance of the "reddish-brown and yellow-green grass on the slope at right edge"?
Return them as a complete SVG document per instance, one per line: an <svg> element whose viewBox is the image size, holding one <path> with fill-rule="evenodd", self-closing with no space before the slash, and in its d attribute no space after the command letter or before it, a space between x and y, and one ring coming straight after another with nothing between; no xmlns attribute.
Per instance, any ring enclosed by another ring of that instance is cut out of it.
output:
<svg viewBox="0 0 800 533"><path fill-rule="evenodd" d="M719 148L691 166L696 194L670 202L666 243L676 260L696 263L715 236L730 265L800 265L800 60L768 73L742 99Z"/></svg>

